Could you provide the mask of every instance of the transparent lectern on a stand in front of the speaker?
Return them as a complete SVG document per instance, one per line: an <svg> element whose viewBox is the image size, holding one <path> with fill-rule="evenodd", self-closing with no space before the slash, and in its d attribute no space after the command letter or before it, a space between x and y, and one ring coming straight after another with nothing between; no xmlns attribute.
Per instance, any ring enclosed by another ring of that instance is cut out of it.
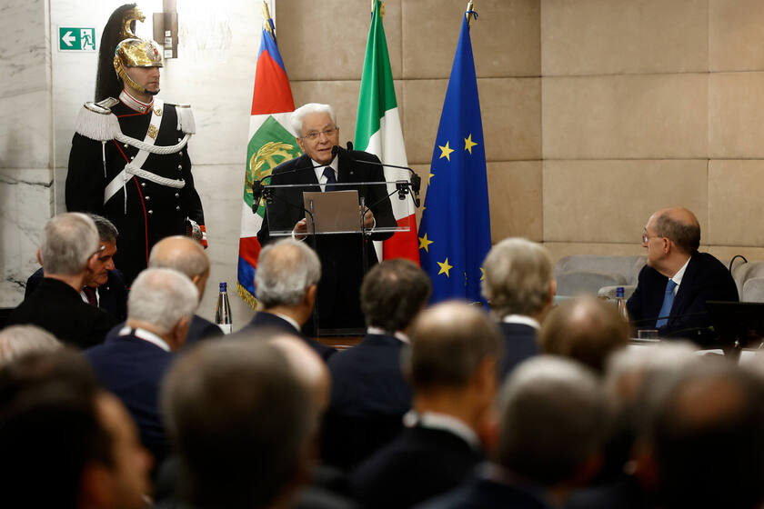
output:
<svg viewBox="0 0 764 509"><path fill-rule="evenodd" d="M410 184L397 181L265 185L263 200L266 242L270 237L293 236L297 222L307 221L307 234L296 238L309 243L321 260L312 334L316 337L366 334L360 310L360 285L368 269L382 258L381 243L373 241L384 241L415 227L410 224L414 214ZM391 200L398 201L398 220L393 215ZM362 210L371 210L374 215L371 228L364 225Z"/></svg>

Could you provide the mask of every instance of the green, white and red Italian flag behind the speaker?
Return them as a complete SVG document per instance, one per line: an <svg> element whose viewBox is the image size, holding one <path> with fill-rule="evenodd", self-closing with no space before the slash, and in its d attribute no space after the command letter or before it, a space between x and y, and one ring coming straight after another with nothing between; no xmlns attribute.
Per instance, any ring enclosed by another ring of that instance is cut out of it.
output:
<svg viewBox="0 0 764 509"><path fill-rule="evenodd" d="M382 26L381 4L380 0L375 0L372 8L364 72L358 97L354 145L356 150L377 155L386 165L407 166L406 147L403 144L396 91L393 87L393 74L390 71L390 57L387 54L385 28ZM387 182L408 181L409 173L407 170L386 167L385 180ZM395 186L390 185L388 193L394 190ZM408 258L419 264L413 198L407 195L406 200L398 200L397 195L393 195L390 201L398 226L410 225L410 231L396 232L382 243L383 258Z"/></svg>

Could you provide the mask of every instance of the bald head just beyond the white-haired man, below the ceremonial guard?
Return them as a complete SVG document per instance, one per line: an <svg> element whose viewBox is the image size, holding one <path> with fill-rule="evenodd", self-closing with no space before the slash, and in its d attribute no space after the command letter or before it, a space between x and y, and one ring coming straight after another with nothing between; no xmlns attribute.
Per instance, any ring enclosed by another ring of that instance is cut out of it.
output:
<svg viewBox="0 0 764 509"><path fill-rule="evenodd" d="M196 241L181 235L163 238L151 248L148 266L154 269L174 269L186 274L196 285L199 300L202 300L209 277L209 258L205 249Z"/></svg>

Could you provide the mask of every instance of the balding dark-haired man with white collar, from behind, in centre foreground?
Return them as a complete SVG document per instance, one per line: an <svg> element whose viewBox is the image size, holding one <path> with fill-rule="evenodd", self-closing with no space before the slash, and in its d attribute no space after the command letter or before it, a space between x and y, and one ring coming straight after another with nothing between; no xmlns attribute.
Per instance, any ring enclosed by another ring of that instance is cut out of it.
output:
<svg viewBox="0 0 764 509"><path fill-rule="evenodd" d="M416 424L352 474L363 507L412 507L472 474L483 459L478 436L496 395L501 351L497 326L476 307L438 304L417 318L404 354Z"/></svg>

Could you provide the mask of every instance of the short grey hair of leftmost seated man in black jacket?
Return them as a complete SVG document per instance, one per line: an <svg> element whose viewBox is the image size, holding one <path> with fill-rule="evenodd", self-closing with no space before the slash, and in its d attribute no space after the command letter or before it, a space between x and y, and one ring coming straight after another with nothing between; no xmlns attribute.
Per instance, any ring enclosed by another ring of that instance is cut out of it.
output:
<svg viewBox="0 0 764 509"><path fill-rule="evenodd" d="M75 275L85 271L98 249L98 230L85 214L67 212L51 217L43 229L40 257L45 274Z"/></svg>

